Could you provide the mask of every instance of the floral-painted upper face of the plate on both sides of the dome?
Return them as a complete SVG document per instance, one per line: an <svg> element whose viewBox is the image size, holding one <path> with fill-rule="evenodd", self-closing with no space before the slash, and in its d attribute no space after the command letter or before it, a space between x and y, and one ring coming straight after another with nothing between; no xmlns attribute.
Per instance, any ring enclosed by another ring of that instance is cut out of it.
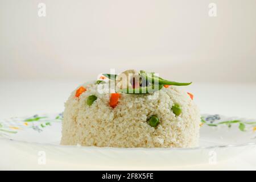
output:
<svg viewBox="0 0 256 182"><path fill-rule="evenodd" d="M63 113L36 114L0 121L0 138L43 144L58 144ZM256 120L203 114L200 147L256 143Z"/></svg>

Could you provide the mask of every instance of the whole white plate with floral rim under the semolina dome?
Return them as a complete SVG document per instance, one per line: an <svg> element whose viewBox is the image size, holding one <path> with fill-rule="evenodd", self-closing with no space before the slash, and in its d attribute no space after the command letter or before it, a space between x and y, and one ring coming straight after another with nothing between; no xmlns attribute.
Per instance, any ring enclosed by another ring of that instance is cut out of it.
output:
<svg viewBox="0 0 256 182"><path fill-rule="evenodd" d="M20 158L46 151L47 160L100 167L211 163L256 147L256 119L203 114L200 146L196 148L60 146L62 119L62 114L42 114L3 120L0 144L19 152Z"/></svg>

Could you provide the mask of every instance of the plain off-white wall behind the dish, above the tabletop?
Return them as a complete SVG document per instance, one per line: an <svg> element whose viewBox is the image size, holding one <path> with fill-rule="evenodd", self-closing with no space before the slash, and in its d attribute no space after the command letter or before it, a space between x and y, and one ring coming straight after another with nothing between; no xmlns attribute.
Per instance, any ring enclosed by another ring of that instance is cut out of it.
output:
<svg viewBox="0 0 256 182"><path fill-rule="evenodd" d="M134 68L255 82L255 9L255 0L0 0L0 78L92 80Z"/></svg>

